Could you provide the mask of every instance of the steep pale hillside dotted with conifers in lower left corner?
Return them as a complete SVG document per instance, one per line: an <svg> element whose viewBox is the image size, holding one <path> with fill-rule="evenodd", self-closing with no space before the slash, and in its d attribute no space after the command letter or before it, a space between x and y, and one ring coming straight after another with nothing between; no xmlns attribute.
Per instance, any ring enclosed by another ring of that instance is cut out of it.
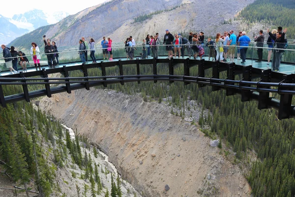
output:
<svg viewBox="0 0 295 197"><path fill-rule="evenodd" d="M18 90L6 86L4 94ZM86 136L71 136L32 102L0 107L0 196L140 196L97 159Z"/></svg>

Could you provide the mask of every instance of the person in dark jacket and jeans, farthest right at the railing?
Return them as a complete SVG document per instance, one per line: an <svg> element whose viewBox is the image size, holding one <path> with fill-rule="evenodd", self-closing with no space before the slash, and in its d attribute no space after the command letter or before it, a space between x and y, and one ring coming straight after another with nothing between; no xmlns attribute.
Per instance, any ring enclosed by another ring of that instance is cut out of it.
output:
<svg viewBox="0 0 295 197"><path fill-rule="evenodd" d="M269 32L267 28L268 35L274 40L274 51L272 56L272 70L279 71L279 67L281 64L281 57L284 50L276 50L276 49L283 49L285 45L285 34L287 32L287 28L283 32L277 32L276 36Z"/></svg>

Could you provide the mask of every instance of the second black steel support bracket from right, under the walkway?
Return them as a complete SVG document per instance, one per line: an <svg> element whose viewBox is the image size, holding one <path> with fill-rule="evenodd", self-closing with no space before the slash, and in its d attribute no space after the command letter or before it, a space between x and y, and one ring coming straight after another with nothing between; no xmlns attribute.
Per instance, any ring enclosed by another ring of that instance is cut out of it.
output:
<svg viewBox="0 0 295 197"><path fill-rule="evenodd" d="M271 69L263 70L261 73L261 82L270 82L270 73ZM259 82L257 83L257 90L259 92L259 88L270 88L270 86L261 86ZM260 92L258 98L258 109L266 109L268 108L269 102L269 92Z"/></svg>

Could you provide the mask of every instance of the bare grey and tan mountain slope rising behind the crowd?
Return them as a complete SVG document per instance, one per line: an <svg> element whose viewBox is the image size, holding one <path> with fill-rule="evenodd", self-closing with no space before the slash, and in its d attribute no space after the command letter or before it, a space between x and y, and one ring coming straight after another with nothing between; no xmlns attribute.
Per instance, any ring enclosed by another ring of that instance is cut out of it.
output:
<svg viewBox="0 0 295 197"><path fill-rule="evenodd" d="M238 11L253 1L239 0L236 3L236 0L228 0L227 3L232 6L225 9L218 0L207 0L206 4L210 6L200 6L198 0L112 0L63 19L46 36L62 47L76 46L82 36L87 40L91 37L100 40L103 36L112 36L114 42L122 42L130 35L135 40L141 40L147 33L163 34L166 29L171 32L208 30L205 33L211 34L212 28L218 30L225 19L234 18ZM134 23L136 17L173 7L177 8L154 15L143 23ZM16 42L15 45L22 43Z"/></svg>

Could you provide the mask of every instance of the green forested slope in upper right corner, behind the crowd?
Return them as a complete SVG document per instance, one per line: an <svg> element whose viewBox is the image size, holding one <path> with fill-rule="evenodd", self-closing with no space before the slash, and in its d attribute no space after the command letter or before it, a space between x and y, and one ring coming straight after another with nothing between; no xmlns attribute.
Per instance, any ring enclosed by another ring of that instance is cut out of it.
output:
<svg viewBox="0 0 295 197"><path fill-rule="evenodd" d="M237 18L248 24L256 22L268 24L272 29L277 29L279 26L288 28L288 37L295 39L294 0L256 0L246 6Z"/></svg>

